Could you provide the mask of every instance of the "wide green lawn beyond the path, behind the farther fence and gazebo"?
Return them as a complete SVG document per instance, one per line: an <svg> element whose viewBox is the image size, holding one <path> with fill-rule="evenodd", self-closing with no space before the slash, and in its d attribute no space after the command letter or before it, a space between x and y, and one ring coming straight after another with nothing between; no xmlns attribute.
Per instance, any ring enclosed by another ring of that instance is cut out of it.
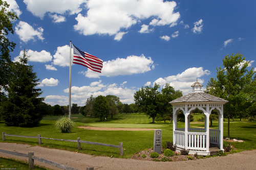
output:
<svg viewBox="0 0 256 170"><path fill-rule="evenodd" d="M0 121L1 132L6 134L37 136L40 134L42 137L57 138L57 139L77 139L81 140L116 144L123 142L124 156L123 158L130 158L136 152L141 150L153 148L154 144L154 131L96 131L77 128L77 126L96 126L96 127L118 127L118 128L154 128L162 129L162 142L173 140L173 124L166 121L166 124L157 122L152 124L152 118L144 114L120 114L113 119L109 118L106 122L100 122L96 118L89 116L72 115L72 120L75 122L76 128L72 133L58 133L54 128L55 121L60 116L46 116L41 120L40 125L34 128L20 128L8 127L3 121ZM204 124L193 124L190 126L204 127ZM184 127L184 123L178 123L179 128ZM218 128L218 122L213 123L214 129ZM227 122L224 122L224 138L227 136ZM235 121L230 122L230 136L231 138L242 139L243 143L232 143L235 148L251 150L256 149L256 123ZM0 139L1 140L1 139ZM15 142L15 143L28 143L31 145L38 145L37 139L11 137L6 136L6 141L2 142ZM225 142L224 142L225 143ZM225 143L227 144L227 143ZM69 150L79 153L86 153L91 155L114 156L121 157L119 149L110 147L101 147L98 145L81 143L81 150L77 150L76 142L56 141L42 139L42 147L57 148L62 150Z"/></svg>

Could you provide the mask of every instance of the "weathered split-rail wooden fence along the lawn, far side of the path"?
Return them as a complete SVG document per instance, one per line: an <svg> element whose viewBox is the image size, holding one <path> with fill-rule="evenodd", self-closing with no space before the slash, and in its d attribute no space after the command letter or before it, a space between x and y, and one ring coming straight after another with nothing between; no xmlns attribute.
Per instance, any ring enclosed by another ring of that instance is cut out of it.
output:
<svg viewBox="0 0 256 170"><path fill-rule="evenodd" d="M80 137L78 137L77 140L70 140L70 139L54 139L54 138L48 138L48 137L41 137L40 134L38 134L37 136L21 136L21 135L5 134L5 132L2 132L2 135L3 135L3 140L4 140L4 141L6 140L6 139L5 139L5 136L16 136L16 137L37 138L37 139L38 139L38 144L41 144L41 143L42 143L41 139L77 142L77 148L78 148L78 150L81 149L81 144L80 144L80 143L96 144L96 145L101 145L101 146L103 146L103 147L119 148L120 155L123 156L123 142L120 142L119 145L114 145L114 144L106 144L106 143L98 143L98 142L80 140Z"/></svg>

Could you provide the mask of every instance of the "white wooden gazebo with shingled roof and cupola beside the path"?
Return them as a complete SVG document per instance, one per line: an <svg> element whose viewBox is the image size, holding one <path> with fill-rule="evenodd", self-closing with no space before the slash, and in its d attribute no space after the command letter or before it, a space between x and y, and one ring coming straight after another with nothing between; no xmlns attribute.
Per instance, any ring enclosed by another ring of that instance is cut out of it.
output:
<svg viewBox="0 0 256 170"><path fill-rule="evenodd" d="M204 93L202 84L196 81L192 87L192 93L182 96L172 102L173 105L173 143L176 150L189 150L189 154L212 155L211 147L224 151L223 149L223 105L228 101L214 95ZM205 115L204 128L190 128L190 114L193 110L199 109ZM209 116L212 110L219 115L218 130L209 129ZM177 127L177 115L183 111L185 115L185 128ZM215 150L216 152L216 150Z"/></svg>

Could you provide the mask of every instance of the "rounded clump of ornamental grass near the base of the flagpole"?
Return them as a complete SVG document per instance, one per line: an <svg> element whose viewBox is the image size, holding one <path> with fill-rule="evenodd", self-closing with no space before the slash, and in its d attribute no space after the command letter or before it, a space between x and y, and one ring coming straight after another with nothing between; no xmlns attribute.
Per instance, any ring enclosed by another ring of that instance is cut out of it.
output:
<svg viewBox="0 0 256 170"><path fill-rule="evenodd" d="M60 117L55 123L55 128L59 130L60 133L68 133L74 126L74 122L68 117Z"/></svg>

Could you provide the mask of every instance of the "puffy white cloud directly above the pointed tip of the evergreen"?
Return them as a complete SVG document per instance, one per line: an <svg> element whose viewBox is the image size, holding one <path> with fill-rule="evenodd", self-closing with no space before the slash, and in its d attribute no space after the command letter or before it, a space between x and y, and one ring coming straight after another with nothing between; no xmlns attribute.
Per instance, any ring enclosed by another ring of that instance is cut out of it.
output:
<svg viewBox="0 0 256 170"><path fill-rule="evenodd" d="M34 29L24 21L19 21L15 27L15 33L19 36L20 40L24 42L28 42L29 40L35 41L36 38L39 40L44 40L45 38L42 37L42 32L44 32L44 29L41 27Z"/></svg>

